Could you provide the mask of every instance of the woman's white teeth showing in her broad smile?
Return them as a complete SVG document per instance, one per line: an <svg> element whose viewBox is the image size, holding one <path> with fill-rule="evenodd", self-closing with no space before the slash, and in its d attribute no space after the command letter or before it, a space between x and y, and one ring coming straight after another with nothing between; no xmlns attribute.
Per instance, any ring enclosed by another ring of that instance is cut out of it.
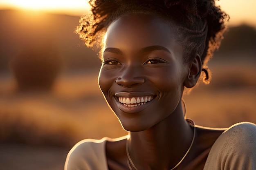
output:
<svg viewBox="0 0 256 170"><path fill-rule="evenodd" d="M138 96L138 97L118 97L120 103L127 107L141 106L150 102L153 96Z"/></svg>

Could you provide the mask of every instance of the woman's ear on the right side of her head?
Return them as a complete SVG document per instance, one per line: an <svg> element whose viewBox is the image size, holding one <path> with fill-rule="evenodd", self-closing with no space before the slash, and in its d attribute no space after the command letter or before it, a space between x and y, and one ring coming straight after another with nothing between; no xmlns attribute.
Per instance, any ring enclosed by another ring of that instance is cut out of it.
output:
<svg viewBox="0 0 256 170"><path fill-rule="evenodd" d="M198 81L198 78L200 77L201 70L202 60L200 55L196 54L193 61L190 64L189 74L184 82L184 86L186 86L187 88L192 88L193 86L195 86L196 82Z"/></svg>

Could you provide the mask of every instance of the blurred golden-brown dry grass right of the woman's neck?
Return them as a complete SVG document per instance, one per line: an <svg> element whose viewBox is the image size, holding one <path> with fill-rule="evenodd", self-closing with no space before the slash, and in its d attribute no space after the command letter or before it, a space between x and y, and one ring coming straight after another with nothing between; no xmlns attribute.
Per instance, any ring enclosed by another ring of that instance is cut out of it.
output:
<svg viewBox="0 0 256 170"><path fill-rule="evenodd" d="M210 64L209 85L199 86L185 95L188 117L197 124L229 127L241 121L256 123L255 61Z"/></svg>

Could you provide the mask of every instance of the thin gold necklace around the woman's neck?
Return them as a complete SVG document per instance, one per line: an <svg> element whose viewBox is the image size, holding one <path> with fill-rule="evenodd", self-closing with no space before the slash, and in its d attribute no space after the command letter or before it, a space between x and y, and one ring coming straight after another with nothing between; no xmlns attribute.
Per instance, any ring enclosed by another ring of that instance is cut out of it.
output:
<svg viewBox="0 0 256 170"><path fill-rule="evenodd" d="M177 166L180 165L180 163L183 161L183 159L186 157L186 155L189 153L193 143L194 143L194 140L195 140L195 122L192 120L192 119L186 119L186 121L189 121L189 123L192 124L193 126L193 138L192 138L192 141L191 141L191 144L189 146L189 149L186 151L185 155L182 157L182 159L180 160L179 163L177 163L176 166L174 166L171 170L174 170ZM126 155L127 155L127 165L129 167L130 170L132 170L132 167L135 169L135 170L138 170L138 168L135 166L135 164L132 162L132 159L130 157L130 154L129 154L129 139L130 137L128 137L128 139L126 140ZM131 167L132 165L132 167Z"/></svg>

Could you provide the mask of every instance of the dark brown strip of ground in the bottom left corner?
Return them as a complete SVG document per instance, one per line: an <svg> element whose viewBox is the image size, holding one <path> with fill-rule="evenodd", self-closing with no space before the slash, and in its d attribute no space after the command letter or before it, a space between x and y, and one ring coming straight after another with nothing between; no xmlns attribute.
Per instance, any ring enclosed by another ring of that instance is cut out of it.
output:
<svg viewBox="0 0 256 170"><path fill-rule="evenodd" d="M68 149L24 144L0 145L1 170L63 170Z"/></svg>

